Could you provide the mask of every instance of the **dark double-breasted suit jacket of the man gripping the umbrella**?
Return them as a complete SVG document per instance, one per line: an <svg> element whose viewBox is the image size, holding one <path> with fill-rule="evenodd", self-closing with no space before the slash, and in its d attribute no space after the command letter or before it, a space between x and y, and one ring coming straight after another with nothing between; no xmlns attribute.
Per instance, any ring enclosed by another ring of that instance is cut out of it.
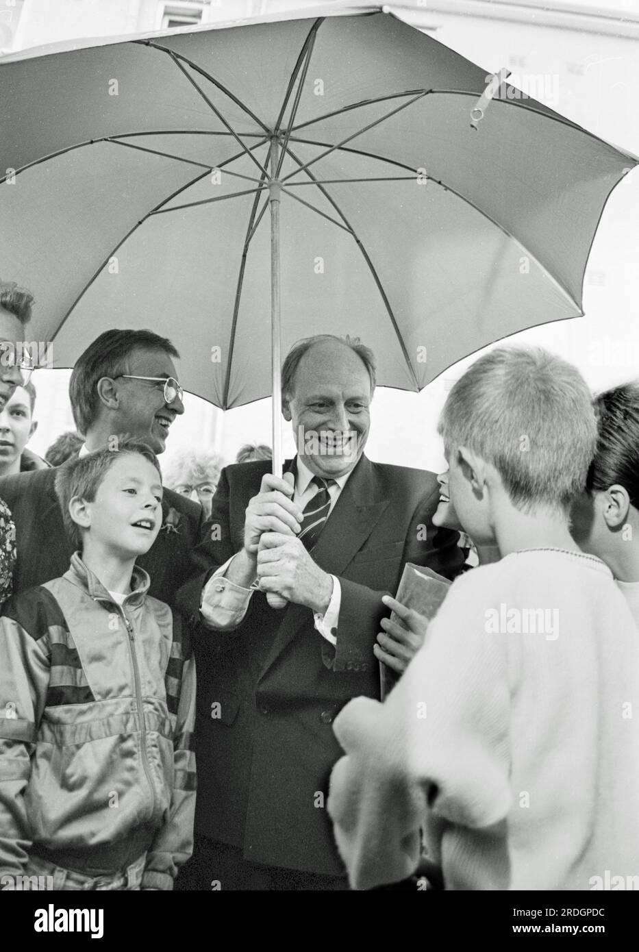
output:
<svg viewBox="0 0 639 952"><path fill-rule="evenodd" d="M217 531L195 553L208 574L242 547L246 506L269 471L269 461L222 471L209 524ZM234 631L201 626L197 833L242 846L257 863L346 875L326 812L341 752L331 723L350 698L379 696L381 596L395 592L404 564L449 577L463 564L458 533L431 525L438 500L432 473L366 457L355 467L312 553L342 587L336 648L310 608L278 611L261 592ZM178 595L193 619L207 577Z"/></svg>

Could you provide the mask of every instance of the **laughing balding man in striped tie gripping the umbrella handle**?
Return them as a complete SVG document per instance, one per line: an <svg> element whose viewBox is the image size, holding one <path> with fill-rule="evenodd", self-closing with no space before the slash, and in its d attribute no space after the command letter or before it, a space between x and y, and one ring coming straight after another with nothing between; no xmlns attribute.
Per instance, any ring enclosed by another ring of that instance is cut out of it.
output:
<svg viewBox="0 0 639 952"><path fill-rule="evenodd" d="M452 578L463 563L457 533L430 522L434 475L364 455L374 385L368 347L302 341L282 371L298 448L284 478L269 461L221 474L196 550L206 574L178 596L204 619L195 848L178 888L348 888L325 810L331 723L379 695L381 596L403 565Z"/></svg>

